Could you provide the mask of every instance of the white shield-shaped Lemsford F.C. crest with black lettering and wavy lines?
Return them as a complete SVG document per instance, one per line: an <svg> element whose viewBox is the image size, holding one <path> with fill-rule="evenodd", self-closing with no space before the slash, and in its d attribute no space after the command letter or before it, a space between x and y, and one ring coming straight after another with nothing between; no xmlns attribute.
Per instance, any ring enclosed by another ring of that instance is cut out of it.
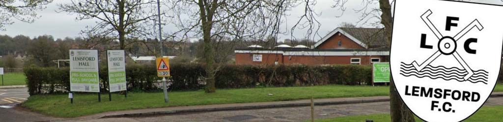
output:
<svg viewBox="0 0 503 122"><path fill-rule="evenodd" d="M491 94L501 64L503 6L396 0L390 68L407 107L426 121L461 121Z"/></svg>

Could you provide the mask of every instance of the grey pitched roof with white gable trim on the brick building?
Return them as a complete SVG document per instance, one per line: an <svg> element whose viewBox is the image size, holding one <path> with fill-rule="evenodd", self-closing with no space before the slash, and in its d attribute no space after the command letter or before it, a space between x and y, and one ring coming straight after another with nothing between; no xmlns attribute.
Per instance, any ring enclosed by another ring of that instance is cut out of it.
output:
<svg viewBox="0 0 503 122"><path fill-rule="evenodd" d="M386 45L384 30L382 28L351 28L351 27L338 27L330 33L321 38L314 46L319 46L334 34L341 32L356 43L365 48L379 47Z"/></svg>

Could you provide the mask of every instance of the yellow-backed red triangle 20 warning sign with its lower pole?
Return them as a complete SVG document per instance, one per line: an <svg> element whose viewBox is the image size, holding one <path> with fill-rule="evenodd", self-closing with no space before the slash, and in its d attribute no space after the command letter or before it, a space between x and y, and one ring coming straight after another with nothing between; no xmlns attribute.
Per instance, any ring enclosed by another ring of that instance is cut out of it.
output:
<svg viewBox="0 0 503 122"><path fill-rule="evenodd" d="M167 57L157 57L155 60L157 67L157 76L162 77L162 91L164 92L164 102L168 101L167 98L167 86L166 77L171 76L170 72L170 58Z"/></svg>

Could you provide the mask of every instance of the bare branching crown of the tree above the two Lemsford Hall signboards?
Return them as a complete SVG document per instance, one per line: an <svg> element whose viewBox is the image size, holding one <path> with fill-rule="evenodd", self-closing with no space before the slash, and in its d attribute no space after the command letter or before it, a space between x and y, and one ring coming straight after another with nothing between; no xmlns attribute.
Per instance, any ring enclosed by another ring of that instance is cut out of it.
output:
<svg viewBox="0 0 503 122"><path fill-rule="evenodd" d="M157 15L154 0L71 0L59 4L62 11L76 13L77 20L98 19L96 25L82 31L89 37L106 38L104 42L119 40L120 49L136 41L130 38L151 36Z"/></svg>

